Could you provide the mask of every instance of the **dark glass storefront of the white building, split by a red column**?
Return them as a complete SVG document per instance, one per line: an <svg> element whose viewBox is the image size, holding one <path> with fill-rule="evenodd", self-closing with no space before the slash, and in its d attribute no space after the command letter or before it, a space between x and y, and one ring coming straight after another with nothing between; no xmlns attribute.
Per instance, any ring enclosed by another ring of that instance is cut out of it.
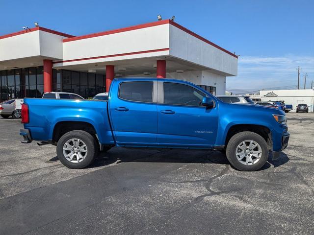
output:
<svg viewBox="0 0 314 235"><path fill-rule="evenodd" d="M93 97L105 92L105 75L52 70L52 91L70 92ZM0 71L0 102L9 98L42 97L44 93L43 67Z"/></svg>

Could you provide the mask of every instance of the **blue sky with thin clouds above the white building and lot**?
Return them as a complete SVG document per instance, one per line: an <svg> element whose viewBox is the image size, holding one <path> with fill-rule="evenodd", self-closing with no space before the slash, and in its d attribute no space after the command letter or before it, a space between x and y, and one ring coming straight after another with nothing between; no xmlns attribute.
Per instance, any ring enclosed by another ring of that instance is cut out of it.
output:
<svg viewBox="0 0 314 235"><path fill-rule="evenodd" d="M227 89L295 86L314 80L313 0L0 0L0 35L41 26L84 35L176 16L176 22L240 54Z"/></svg>

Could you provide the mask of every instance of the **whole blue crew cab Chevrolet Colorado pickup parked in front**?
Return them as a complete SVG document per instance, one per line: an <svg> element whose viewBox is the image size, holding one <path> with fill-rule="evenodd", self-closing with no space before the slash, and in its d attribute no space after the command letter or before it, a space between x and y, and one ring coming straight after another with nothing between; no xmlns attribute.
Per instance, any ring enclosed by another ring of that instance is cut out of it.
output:
<svg viewBox="0 0 314 235"><path fill-rule="evenodd" d="M83 168L112 146L214 149L238 170L254 171L288 145L285 113L225 103L180 80L120 78L108 101L25 98L25 143L56 145L62 164Z"/></svg>

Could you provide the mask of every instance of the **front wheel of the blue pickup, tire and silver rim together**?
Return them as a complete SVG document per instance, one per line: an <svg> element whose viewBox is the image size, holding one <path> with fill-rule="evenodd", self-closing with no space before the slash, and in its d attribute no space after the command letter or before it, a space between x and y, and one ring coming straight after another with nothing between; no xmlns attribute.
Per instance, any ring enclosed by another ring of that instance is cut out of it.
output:
<svg viewBox="0 0 314 235"><path fill-rule="evenodd" d="M244 131L235 134L228 142L227 158L236 169L242 171L255 171L260 169L267 161L268 148L262 136Z"/></svg>

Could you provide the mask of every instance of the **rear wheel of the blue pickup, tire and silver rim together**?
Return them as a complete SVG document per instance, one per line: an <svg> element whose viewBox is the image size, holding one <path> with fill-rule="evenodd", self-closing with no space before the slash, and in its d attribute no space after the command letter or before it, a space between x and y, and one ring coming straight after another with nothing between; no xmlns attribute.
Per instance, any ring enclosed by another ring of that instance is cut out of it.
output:
<svg viewBox="0 0 314 235"><path fill-rule="evenodd" d="M81 169L94 161L96 148L95 140L88 132L70 131L58 141L57 156L66 167Z"/></svg>

